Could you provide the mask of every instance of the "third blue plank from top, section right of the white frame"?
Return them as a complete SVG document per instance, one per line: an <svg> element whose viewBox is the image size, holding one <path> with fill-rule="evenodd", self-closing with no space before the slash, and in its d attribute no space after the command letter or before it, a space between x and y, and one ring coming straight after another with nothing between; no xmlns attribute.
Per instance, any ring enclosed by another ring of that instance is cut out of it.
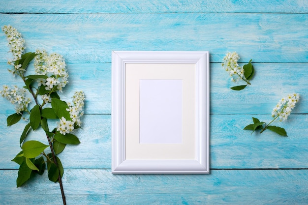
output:
<svg viewBox="0 0 308 205"><path fill-rule="evenodd" d="M252 59L254 57L251 57ZM211 64L211 114L271 114L279 100L297 92L300 101L292 113L307 114L307 63L252 63L255 75L251 85L235 91L230 87L245 85L231 82L220 64ZM243 65L243 64L240 64Z"/></svg>

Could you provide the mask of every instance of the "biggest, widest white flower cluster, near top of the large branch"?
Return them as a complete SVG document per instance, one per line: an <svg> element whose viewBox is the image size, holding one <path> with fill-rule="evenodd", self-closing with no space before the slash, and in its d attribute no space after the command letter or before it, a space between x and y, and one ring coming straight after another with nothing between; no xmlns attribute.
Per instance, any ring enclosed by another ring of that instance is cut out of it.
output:
<svg viewBox="0 0 308 205"><path fill-rule="evenodd" d="M53 53L48 55L46 51L36 51L37 56L34 58L34 69L37 75L47 75L47 79L37 79L40 85L46 86L46 90L56 89L62 92L62 88L68 83L68 73L64 58Z"/></svg>

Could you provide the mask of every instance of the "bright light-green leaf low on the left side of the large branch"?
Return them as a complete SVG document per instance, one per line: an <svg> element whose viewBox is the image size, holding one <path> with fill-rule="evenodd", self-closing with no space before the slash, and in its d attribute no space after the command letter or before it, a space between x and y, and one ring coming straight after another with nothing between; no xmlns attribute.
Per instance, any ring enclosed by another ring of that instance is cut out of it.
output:
<svg viewBox="0 0 308 205"><path fill-rule="evenodd" d="M27 141L23 144L22 149L24 151L24 156L26 158L35 158L38 156L44 149L46 149L48 145L44 145L41 142L38 141Z"/></svg>

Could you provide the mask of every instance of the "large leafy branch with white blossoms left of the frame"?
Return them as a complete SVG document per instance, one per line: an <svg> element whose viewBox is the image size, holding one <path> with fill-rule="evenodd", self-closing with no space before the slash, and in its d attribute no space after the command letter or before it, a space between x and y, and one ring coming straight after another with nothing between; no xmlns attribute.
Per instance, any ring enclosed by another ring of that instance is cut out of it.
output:
<svg viewBox="0 0 308 205"><path fill-rule="evenodd" d="M13 59L8 61L12 69L8 69L13 76L19 76L25 86L2 86L0 94L15 105L16 113L7 117L7 126L20 121L21 118L29 120L20 137L21 151L12 160L20 165L17 187L23 185L36 174L42 175L47 167L48 178L59 182L63 205L66 205L62 185L63 167L58 157L67 144L80 144L77 136L72 132L81 126L85 94L76 91L72 103L60 99L58 91L68 83L68 73L64 58L57 54L47 54L46 51L37 50L35 53L25 53L24 42L21 34L12 26L4 26L10 52ZM25 75L27 67L34 61L35 75ZM34 100L33 108L29 109L31 99L26 96L27 91ZM29 117L29 118L28 118ZM59 120L57 127L49 129L49 120ZM32 130L42 128L46 134L48 145L39 141L28 140L27 136ZM47 153L46 148L50 149Z"/></svg>

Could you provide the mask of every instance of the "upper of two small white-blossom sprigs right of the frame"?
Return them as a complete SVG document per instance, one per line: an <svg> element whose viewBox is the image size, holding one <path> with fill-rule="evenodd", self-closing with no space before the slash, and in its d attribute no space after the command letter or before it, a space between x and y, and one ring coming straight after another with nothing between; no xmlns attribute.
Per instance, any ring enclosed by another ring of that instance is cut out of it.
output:
<svg viewBox="0 0 308 205"><path fill-rule="evenodd" d="M238 65L239 59L240 57L236 52L228 52L221 63L222 67L229 72L232 82L238 83L240 80L246 82L246 85L231 87L233 90L242 90L248 84L251 85L249 80L254 75L254 68L251 64L252 59L243 67Z"/></svg>

